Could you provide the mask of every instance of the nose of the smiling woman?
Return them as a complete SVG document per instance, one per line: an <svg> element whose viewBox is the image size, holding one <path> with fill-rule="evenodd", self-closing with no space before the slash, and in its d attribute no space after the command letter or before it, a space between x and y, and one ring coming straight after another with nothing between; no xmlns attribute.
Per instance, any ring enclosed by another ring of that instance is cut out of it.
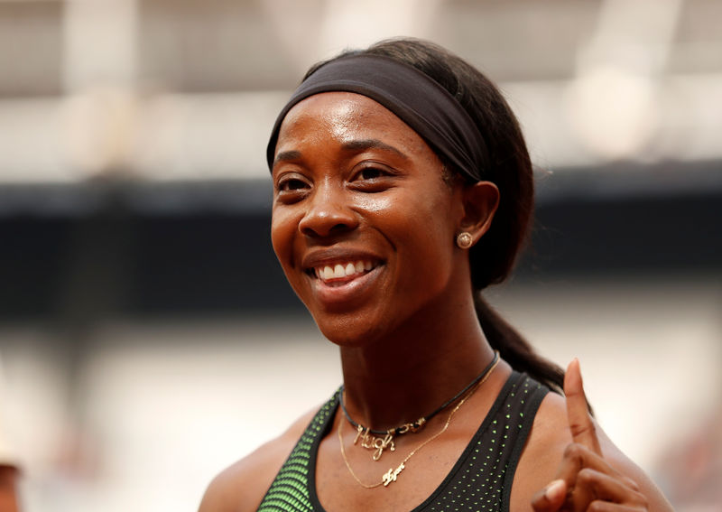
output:
<svg viewBox="0 0 722 512"><path fill-rule="evenodd" d="M307 237L333 237L358 226L353 209L349 208L344 191L333 185L319 186L309 198L308 209L299 222L301 233Z"/></svg>

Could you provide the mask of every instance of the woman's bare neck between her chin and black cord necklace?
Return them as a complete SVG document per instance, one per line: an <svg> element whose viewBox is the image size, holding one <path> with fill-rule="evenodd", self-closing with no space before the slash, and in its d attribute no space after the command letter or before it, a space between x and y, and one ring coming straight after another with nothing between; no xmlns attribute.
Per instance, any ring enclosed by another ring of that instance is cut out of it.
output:
<svg viewBox="0 0 722 512"><path fill-rule="evenodd" d="M386 430L410 423L445 403L494 358L473 303L430 306L382 340L341 347L348 413Z"/></svg>

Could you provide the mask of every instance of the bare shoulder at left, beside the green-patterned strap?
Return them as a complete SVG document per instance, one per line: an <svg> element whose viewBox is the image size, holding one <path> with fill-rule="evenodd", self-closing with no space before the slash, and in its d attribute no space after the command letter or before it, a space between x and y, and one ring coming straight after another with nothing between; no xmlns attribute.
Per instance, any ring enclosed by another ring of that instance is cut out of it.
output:
<svg viewBox="0 0 722 512"><path fill-rule="evenodd" d="M255 511L283 462L317 412L318 407L303 414L282 435L221 471L208 484L199 512Z"/></svg>

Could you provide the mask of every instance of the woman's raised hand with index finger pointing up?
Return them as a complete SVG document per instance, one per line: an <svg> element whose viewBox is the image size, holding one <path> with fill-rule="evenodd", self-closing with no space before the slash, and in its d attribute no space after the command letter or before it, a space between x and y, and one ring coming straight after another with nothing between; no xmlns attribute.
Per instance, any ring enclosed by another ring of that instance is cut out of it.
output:
<svg viewBox="0 0 722 512"><path fill-rule="evenodd" d="M556 478L532 498L535 512L649 510L634 480L612 468L604 458L597 425L588 411L579 361L569 363L564 394L572 442L564 451Z"/></svg>

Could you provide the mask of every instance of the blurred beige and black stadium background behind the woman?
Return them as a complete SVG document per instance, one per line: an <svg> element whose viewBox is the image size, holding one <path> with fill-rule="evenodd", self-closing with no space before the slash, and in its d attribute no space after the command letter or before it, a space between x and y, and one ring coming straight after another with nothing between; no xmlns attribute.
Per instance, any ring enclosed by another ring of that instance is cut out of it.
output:
<svg viewBox="0 0 722 512"><path fill-rule="evenodd" d="M0 0L0 455L25 510L195 510L340 383L270 245L273 118L394 35L494 79L537 165L492 303L678 510L722 507L722 3ZM0 461L2 462L2 461Z"/></svg>

